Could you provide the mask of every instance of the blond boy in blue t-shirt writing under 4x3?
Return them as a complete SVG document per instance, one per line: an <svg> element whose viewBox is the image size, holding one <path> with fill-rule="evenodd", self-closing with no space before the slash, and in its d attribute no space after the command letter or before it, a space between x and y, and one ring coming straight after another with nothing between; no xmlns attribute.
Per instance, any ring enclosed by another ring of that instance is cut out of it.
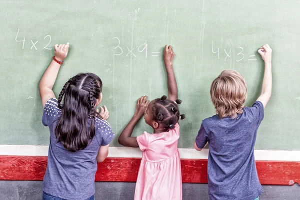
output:
<svg viewBox="0 0 300 200"><path fill-rule="evenodd" d="M258 53L264 60L264 75L260 96L252 107L244 106L247 87L238 72L224 70L210 86L216 115L202 121L194 142L197 151L209 144L209 200L258 200L262 194L254 144L263 109L271 96L272 50L265 44Z"/></svg>

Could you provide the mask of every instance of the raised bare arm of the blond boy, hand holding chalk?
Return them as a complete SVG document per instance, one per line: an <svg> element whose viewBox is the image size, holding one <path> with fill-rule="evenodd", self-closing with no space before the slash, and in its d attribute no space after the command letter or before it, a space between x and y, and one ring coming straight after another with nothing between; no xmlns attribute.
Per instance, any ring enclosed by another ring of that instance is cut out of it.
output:
<svg viewBox="0 0 300 200"><path fill-rule="evenodd" d="M260 101L263 107L265 107L272 93L272 49L268 44L265 44L259 48L258 53L264 60L264 74L261 85L261 93L257 101Z"/></svg>

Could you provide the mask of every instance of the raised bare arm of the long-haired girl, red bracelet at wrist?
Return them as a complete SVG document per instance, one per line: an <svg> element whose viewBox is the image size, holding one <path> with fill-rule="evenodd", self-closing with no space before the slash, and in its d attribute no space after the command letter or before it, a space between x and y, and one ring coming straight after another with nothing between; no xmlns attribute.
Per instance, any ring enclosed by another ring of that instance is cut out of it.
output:
<svg viewBox="0 0 300 200"><path fill-rule="evenodd" d="M55 44L54 45L54 51L55 51L55 58L56 60L63 61L64 58L67 55L68 52L68 43L66 44ZM52 87L55 83L58 70L59 70L60 64L58 64L56 61L52 60L49 64L48 68L42 75L40 81L39 81L39 95L41 99L42 106L45 107L45 103L51 99L55 98L54 92L52 91Z"/></svg>

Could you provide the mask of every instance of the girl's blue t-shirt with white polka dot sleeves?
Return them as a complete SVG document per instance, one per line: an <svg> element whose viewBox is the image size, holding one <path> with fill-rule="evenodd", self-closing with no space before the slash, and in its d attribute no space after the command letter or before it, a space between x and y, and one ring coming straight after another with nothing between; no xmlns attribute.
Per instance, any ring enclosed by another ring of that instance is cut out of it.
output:
<svg viewBox="0 0 300 200"><path fill-rule="evenodd" d="M56 99L49 99L44 107L42 123L50 130L48 164L42 182L42 190L67 200L85 200L95 193L96 156L101 145L113 139L110 125L95 118L95 135L85 149L69 152L55 137L54 129L61 115ZM91 120L89 119L88 130Z"/></svg>

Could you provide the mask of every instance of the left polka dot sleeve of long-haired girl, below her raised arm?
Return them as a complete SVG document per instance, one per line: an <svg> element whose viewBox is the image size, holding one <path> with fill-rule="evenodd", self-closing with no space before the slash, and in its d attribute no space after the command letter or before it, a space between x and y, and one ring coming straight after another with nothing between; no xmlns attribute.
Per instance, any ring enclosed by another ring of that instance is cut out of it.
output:
<svg viewBox="0 0 300 200"><path fill-rule="evenodd" d="M61 110L57 107L57 99L49 99L44 107L42 114L42 124L50 126L61 115Z"/></svg>

